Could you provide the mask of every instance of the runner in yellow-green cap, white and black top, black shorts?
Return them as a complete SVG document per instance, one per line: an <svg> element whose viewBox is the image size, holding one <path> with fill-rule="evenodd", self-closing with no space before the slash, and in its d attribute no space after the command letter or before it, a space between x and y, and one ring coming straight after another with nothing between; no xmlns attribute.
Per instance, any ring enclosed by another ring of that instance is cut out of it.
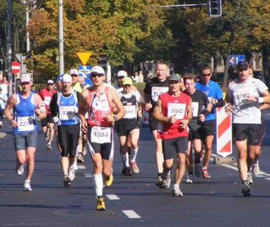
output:
<svg viewBox="0 0 270 227"><path fill-rule="evenodd" d="M138 106L142 104L143 100L138 91L132 90L132 79L125 77L122 80L123 91L119 92L120 100L125 109L125 116L118 120L115 129L119 136L120 152L123 160L124 168L122 173L124 175L132 175L139 173L136 164L136 156L138 153L138 138L140 136L140 124L138 121ZM127 143L130 140L132 152L130 157L127 156Z"/></svg>

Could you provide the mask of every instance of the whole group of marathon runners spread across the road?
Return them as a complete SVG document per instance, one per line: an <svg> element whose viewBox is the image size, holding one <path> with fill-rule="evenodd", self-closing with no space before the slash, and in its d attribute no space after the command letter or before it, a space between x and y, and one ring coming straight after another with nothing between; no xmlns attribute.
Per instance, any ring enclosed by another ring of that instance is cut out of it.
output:
<svg viewBox="0 0 270 227"><path fill-rule="evenodd" d="M258 166L264 134L259 130L262 126L260 104L270 102L270 96L267 86L250 76L251 67L246 61L238 63L237 70L238 78L228 87L226 110L233 115L233 141L238 150L242 193L247 196L251 195L249 183L252 180L247 179L249 169ZM122 173L139 173L136 157L140 133L138 118L142 116L142 108L149 113L149 128L155 142L156 186L171 186L175 151L174 196L183 196L180 182L186 166L187 183L192 183L194 176L210 178L207 167L216 131L214 109L225 105L219 85L211 80L211 67L204 65L197 80L194 74L169 76L169 65L158 61L156 77L147 80L143 97L132 86L127 72L121 70L117 76L116 87L107 85L104 69L94 66L90 76L92 87L86 89L83 80L79 80L78 71L71 69L70 74L59 76L57 90L53 89L53 81L48 80L40 96L31 91L30 75L21 76L21 94L13 94L9 98L5 114L13 128L18 175L23 175L27 164L24 191L32 191L30 180L37 148L36 117L39 117L48 149L52 148L56 129L65 186L70 186L74 180L76 161L83 162L87 144L94 166L96 209L105 210L103 184L111 186L113 182L113 125L120 142ZM268 106L262 105L261 108ZM13 116L10 113L12 109Z"/></svg>

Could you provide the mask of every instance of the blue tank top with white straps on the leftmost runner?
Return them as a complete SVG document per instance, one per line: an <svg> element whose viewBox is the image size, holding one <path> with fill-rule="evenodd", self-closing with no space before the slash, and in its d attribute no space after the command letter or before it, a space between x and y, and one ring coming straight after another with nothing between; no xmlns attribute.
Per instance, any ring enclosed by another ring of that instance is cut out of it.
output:
<svg viewBox="0 0 270 227"><path fill-rule="evenodd" d="M29 133L37 131L37 120L34 110L34 92L30 92L28 98L23 98L21 94L16 95L16 105L13 109L14 120L18 127L13 128L13 133Z"/></svg>

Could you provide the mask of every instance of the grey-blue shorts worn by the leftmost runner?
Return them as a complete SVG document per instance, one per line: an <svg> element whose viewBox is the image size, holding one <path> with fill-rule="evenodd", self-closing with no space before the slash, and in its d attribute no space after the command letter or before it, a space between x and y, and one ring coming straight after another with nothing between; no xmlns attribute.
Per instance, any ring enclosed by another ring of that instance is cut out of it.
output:
<svg viewBox="0 0 270 227"><path fill-rule="evenodd" d="M14 147L15 151L25 150L27 147L37 148L37 131L29 133L14 133Z"/></svg>

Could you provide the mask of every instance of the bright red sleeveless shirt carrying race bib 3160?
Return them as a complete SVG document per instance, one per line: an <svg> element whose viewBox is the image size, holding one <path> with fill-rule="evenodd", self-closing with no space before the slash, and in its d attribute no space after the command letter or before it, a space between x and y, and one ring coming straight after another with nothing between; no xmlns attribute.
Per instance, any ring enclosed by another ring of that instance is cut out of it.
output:
<svg viewBox="0 0 270 227"><path fill-rule="evenodd" d="M188 131L179 126L180 120L187 119L187 106L190 102L190 97L181 92L178 97L171 96L168 92L159 96L162 102L163 116L176 115L176 122L174 124L163 122L163 130L161 138L173 139L178 137L187 137Z"/></svg>

